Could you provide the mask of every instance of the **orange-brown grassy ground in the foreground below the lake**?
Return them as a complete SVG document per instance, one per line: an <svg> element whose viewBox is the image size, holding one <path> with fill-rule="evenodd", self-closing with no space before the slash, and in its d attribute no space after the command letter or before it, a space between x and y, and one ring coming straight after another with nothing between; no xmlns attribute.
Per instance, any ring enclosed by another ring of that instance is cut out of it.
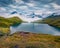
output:
<svg viewBox="0 0 60 48"><path fill-rule="evenodd" d="M0 48L60 48L60 36L17 32L0 38Z"/></svg>

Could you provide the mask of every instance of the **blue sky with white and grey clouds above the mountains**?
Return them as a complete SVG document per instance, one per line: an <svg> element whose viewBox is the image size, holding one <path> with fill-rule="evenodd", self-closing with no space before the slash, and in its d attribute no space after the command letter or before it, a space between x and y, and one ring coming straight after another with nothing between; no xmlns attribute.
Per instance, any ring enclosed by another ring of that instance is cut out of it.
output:
<svg viewBox="0 0 60 48"><path fill-rule="evenodd" d="M60 12L60 0L0 0L0 16L11 12L40 14L47 16L53 12Z"/></svg>

